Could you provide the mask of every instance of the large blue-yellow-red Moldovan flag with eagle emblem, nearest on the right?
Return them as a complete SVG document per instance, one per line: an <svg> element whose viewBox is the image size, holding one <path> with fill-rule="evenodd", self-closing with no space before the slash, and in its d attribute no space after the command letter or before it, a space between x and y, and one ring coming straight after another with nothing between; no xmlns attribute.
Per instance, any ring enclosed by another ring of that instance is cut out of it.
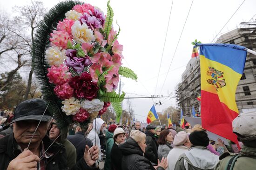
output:
<svg viewBox="0 0 256 170"><path fill-rule="evenodd" d="M202 127L238 143L232 121L238 116L236 88L245 64L245 47L199 44Z"/></svg>

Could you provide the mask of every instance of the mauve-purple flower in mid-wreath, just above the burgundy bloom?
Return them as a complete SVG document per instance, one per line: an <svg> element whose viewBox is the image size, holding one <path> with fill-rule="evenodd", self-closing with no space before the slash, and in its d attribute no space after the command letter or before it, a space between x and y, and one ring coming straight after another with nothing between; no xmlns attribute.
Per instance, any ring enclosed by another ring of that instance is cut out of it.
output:
<svg viewBox="0 0 256 170"><path fill-rule="evenodd" d="M67 57L65 60L65 64L67 67L72 67L74 71L81 73L84 69L84 58L78 58L78 57Z"/></svg>

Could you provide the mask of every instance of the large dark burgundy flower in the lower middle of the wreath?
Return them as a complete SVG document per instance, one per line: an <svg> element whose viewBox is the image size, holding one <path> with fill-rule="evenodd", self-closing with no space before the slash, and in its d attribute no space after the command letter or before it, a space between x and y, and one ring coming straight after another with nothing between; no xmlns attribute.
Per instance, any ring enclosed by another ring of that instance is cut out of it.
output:
<svg viewBox="0 0 256 170"><path fill-rule="evenodd" d="M99 88L96 82L92 82L92 77L87 72L82 73L81 76L72 77L69 85L74 88L74 97L78 99L85 98L92 101L97 97Z"/></svg>

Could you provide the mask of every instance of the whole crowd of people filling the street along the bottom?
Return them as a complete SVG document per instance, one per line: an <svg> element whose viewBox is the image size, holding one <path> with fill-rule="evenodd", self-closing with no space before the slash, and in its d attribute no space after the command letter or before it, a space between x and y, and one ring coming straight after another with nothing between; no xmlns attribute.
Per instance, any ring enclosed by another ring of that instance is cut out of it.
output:
<svg viewBox="0 0 256 170"><path fill-rule="evenodd" d="M233 120L237 146L210 140L201 125L121 126L96 118L60 129L46 108L31 99L14 113L0 112L0 170L256 169L256 112Z"/></svg>

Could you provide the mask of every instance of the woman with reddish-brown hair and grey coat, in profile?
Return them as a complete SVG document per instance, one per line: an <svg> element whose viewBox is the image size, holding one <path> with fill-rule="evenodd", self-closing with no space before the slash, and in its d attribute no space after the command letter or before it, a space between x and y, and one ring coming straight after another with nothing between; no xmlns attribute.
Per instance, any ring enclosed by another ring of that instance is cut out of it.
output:
<svg viewBox="0 0 256 170"><path fill-rule="evenodd" d="M157 154L158 154L159 160L161 160L162 157L167 157L169 151L173 149L173 147L171 146L172 141L173 141L172 132L166 129L162 130L160 133L159 139L157 141L158 143Z"/></svg>

